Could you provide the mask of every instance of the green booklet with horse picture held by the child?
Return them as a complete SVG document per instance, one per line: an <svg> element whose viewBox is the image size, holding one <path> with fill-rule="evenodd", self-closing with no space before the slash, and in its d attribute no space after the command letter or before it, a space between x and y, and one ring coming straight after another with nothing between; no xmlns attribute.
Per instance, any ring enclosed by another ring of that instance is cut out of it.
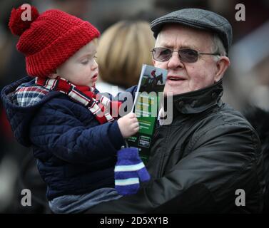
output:
<svg viewBox="0 0 269 228"><path fill-rule="evenodd" d="M163 96L167 71L143 64L139 78L133 113L139 122L136 135L126 139L128 147L137 147L143 162L148 161L151 140L156 127L159 103Z"/></svg>

